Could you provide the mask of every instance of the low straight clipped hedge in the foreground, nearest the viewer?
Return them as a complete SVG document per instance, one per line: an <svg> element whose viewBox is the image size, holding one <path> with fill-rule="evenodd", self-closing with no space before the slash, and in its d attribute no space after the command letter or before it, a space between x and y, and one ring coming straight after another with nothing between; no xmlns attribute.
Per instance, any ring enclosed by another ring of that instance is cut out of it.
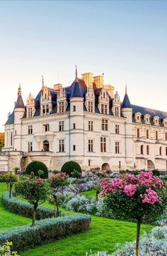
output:
<svg viewBox="0 0 167 256"><path fill-rule="evenodd" d="M91 217L88 215L45 218L37 221L33 228L26 225L1 231L0 244L8 240L13 243L12 250L27 250L35 245L88 230L90 223Z"/></svg>

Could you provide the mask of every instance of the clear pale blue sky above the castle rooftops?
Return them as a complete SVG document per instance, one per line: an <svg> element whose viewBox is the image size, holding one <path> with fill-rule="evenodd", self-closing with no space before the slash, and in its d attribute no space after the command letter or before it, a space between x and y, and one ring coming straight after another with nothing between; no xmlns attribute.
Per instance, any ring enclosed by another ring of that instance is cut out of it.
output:
<svg viewBox="0 0 167 256"><path fill-rule="evenodd" d="M123 99L167 111L167 1L0 1L0 131L42 86L103 74Z"/></svg>

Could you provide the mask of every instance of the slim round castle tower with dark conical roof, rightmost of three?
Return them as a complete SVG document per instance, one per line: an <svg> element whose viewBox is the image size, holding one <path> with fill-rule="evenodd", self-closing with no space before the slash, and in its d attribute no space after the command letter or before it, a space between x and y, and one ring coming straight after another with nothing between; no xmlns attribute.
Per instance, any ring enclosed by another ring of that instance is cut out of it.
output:
<svg viewBox="0 0 167 256"><path fill-rule="evenodd" d="M122 115L126 118L125 121L125 162L128 169L132 169L133 155L134 155L134 145L132 139L132 106L127 95L127 86L125 89L125 96L121 105Z"/></svg>

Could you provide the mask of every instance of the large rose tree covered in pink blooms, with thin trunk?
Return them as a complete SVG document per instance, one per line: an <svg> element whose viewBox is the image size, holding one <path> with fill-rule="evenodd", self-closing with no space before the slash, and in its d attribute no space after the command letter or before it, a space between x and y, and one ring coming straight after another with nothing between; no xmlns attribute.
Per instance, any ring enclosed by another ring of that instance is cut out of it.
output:
<svg viewBox="0 0 167 256"><path fill-rule="evenodd" d="M166 211L166 186L152 172L141 172L137 177L125 174L119 179L103 179L100 185L104 204L115 218L137 221L136 256L139 256L141 223L156 221Z"/></svg>

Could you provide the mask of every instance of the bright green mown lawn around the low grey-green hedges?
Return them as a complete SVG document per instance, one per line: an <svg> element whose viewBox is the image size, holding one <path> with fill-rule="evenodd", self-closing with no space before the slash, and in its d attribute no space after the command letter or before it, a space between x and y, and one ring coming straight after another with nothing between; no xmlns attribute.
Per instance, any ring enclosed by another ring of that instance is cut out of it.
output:
<svg viewBox="0 0 167 256"><path fill-rule="evenodd" d="M6 190L6 185L0 183L0 192ZM92 192L92 191L91 191ZM49 201L43 204L47 207L53 207ZM64 211L64 210L63 210ZM1 216L1 212L3 217ZM71 213L71 212L70 212ZM136 223L125 221L116 221L108 218L91 216L91 229L76 235L72 235L54 243L40 245L21 252L21 256L84 256L85 252L109 251L114 252L116 243L125 243L132 241L136 236ZM0 227L11 228L21 226L30 222L30 219L17 216L8 212L0 205ZM149 232L153 226L142 225L142 232Z"/></svg>

